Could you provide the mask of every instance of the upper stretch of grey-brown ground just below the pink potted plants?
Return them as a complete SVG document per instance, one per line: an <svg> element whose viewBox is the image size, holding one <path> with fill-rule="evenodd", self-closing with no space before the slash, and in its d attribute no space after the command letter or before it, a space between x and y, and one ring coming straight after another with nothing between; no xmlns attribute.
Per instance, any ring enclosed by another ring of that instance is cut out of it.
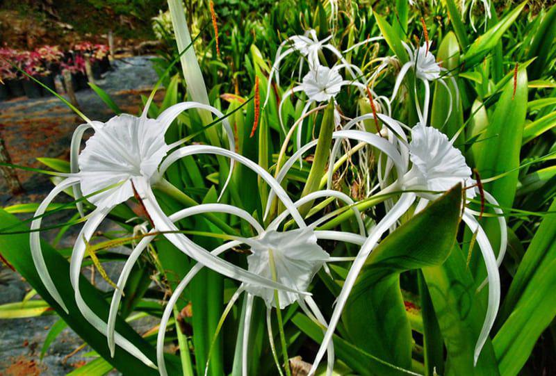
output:
<svg viewBox="0 0 556 376"><path fill-rule="evenodd" d="M141 95L148 95L158 76L149 57L136 56L116 60L113 70L97 81L122 111L138 113ZM161 99L163 92L157 94ZM76 92L77 101L90 119L106 121L114 115L92 90ZM72 132L83 121L56 97L41 99L18 98L0 102L0 133L13 163L43 168L36 158L50 157L69 160ZM51 189L48 178L41 174L18 170L26 193L11 197L6 182L0 179L0 205L15 202L36 202Z"/></svg>

